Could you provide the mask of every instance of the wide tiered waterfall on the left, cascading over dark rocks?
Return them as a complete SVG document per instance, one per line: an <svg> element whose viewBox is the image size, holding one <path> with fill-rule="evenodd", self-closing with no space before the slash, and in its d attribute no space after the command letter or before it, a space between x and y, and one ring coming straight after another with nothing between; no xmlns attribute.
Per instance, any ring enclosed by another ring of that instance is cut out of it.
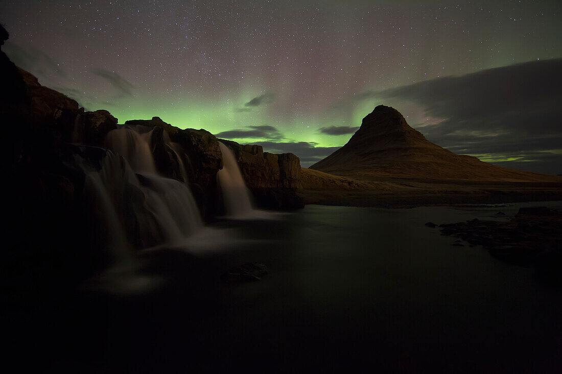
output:
<svg viewBox="0 0 562 374"><path fill-rule="evenodd" d="M99 172L122 226L134 232L142 248L157 244L179 245L201 229L203 222L191 190L182 158L174 143L166 142L178 157L184 183L158 175L151 152L152 130L144 126L120 127L107 134L107 147L125 158L121 171ZM169 140L166 139L166 140ZM117 157L108 152L106 158ZM119 214L117 214L119 216Z"/></svg>

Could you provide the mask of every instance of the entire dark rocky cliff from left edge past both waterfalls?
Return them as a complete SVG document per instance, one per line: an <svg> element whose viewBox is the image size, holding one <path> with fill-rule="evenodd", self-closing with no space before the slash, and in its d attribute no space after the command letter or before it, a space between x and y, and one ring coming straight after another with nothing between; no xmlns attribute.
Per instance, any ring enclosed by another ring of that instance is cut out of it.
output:
<svg viewBox="0 0 562 374"><path fill-rule="evenodd" d="M17 118L26 116L24 122L30 129L19 134L22 138L31 139L34 135L43 134L37 136L37 142L42 144L34 147L35 149L45 148L49 139L56 140L57 146L64 148L65 152L69 147L63 146L64 143L107 148L106 135L111 130L123 126L117 125L117 118L106 110L84 111L73 99L40 85L35 76L17 68L3 53L2 58L3 107L6 107L10 100L15 100L7 90L19 93L17 103L12 104L5 112L8 113L9 109ZM17 121L22 122L21 118ZM181 181L184 178L183 168L185 169L187 182L203 217L212 219L222 212L216 181L216 173L222 167L222 159L214 135L203 129L182 130L167 124L159 117L126 121L124 126L142 126L143 131L151 131L151 152L160 174ZM48 135L44 134L45 131ZM28 135L23 135L24 133ZM298 157L291 153L264 153L263 149L256 145L240 145L229 140L223 142L234 150L244 180L255 194L260 207L294 209L303 206L302 199L294 194L301 170ZM59 153L64 152L60 150ZM21 154L12 156L21 158ZM31 158L34 157L40 158L39 155Z"/></svg>

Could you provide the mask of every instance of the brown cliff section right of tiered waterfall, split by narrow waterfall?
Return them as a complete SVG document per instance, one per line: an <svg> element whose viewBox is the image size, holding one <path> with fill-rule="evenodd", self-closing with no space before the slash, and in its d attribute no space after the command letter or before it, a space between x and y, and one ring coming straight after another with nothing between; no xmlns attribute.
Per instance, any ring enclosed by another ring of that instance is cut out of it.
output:
<svg viewBox="0 0 562 374"><path fill-rule="evenodd" d="M267 153L259 145L241 145L231 140L216 139L203 129L178 129L159 117L126 121L125 125L162 129L152 133L152 152L157 169L168 177L181 180L177 150L174 152L174 149L165 146L166 136L178 144L178 153L186 166L192 192L197 201L202 202L202 213L207 218L220 210L217 206L220 197L216 173L222 167L222 154L217 140L233 150L242 177L259 207L288 210L304 206L303 200L294 191L299 184L301 166L298 157L292 153Z"/></svg>

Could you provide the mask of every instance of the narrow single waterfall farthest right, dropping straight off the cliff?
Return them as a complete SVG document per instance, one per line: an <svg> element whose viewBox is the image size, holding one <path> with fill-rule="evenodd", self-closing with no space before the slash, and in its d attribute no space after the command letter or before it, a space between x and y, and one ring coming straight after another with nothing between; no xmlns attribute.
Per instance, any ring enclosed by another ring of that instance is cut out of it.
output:
<svg viewBox="0 0 562 374"><path fill-rule="evenodd" d="M223 154L223 168L217 172L220 188L223 190L226 212L229 216L241 217L253 211L250 191L230 148L219 142Z"/></svg>

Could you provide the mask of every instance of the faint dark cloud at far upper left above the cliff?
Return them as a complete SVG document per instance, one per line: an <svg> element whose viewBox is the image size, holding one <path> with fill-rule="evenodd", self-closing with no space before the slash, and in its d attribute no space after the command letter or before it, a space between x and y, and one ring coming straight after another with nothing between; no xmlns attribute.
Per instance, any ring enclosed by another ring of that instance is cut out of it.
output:
<svg viewBox="0 0 562 374"><path fill-rule="evenodd" d="M66 72L47 53L30 45L19 45L7 40L4 52L13 63L38 77L56 75L66 77Z"/></svg>

